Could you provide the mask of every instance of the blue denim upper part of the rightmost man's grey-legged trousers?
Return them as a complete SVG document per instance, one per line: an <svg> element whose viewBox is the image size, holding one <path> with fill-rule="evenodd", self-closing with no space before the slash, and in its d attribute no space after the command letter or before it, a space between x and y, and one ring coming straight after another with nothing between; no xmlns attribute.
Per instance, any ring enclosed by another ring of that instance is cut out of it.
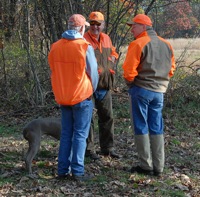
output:
<svg viewBox="0 0 200 197"><path fill-rule="evenodd" d="M129 89L135 135L163 134L163 93L138 86Z"/></svg>

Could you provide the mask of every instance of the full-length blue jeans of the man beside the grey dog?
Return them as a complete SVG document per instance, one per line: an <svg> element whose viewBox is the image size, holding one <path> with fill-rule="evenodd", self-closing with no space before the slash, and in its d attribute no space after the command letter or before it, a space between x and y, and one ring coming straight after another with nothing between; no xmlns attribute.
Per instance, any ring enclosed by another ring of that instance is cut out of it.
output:
<svg viewBox="0 0 200 197"><path fill-rule="evenodd" d="M92 117L92 100L73 106L61 106L62 131L58 154L58 175L84 174L84 157Z"/></svg>

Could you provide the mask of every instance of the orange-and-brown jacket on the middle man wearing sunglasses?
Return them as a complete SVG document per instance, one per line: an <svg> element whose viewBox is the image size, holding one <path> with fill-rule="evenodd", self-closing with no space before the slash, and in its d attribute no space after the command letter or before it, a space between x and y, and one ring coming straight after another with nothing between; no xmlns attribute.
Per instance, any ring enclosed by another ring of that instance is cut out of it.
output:
<svg viewBox="0 0 200 197"><path fill-rule="evenodd" d="M98 64L99 83L97 89L110 90L114 83L114 65L111 61L112 56L118 59L119 55L112 45L110 37L105 33L100 33L99 41L88 31L84 34L84 38L94 48L95 56Z"/></svg>

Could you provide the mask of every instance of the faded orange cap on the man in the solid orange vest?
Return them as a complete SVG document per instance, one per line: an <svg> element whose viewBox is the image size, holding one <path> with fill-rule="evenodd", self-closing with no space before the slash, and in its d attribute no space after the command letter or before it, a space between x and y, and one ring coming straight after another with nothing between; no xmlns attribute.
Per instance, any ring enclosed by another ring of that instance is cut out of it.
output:
<svg viewBox="0 0 200 197"><path fill-rule="evenodd" d="M70 16L68 24L75 27L80 27L83 25L90 26L90 24L86 21L85 17L81 14L73 14L72 16Z"/></svg>

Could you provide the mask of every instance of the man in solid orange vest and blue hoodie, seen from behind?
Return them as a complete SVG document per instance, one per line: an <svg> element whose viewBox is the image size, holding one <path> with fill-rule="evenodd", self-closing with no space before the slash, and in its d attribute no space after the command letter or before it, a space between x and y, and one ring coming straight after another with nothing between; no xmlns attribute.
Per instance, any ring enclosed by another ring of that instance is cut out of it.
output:
<svg viewBox="0 0 200 197"><path fill-rule="evenodd" d="M81 181L90 178L84 173L84 156L93 111L91 96L98 83L94 50L83 38L85 26L89 23L82 15L72 15L69 30L52 44L48 56L52 89L62 115L58 178Z"/></svg>

